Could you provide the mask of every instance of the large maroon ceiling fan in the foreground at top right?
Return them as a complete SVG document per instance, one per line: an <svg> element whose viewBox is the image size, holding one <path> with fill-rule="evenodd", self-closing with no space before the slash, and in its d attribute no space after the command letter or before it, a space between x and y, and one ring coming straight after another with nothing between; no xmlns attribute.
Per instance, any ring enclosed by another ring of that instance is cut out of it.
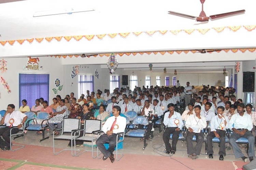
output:
<svg viewBox="0 0 256 170"><path fill-rule="evenodd" d="M171 15L177 15L177 16L181 16L181 17L185 17L185 18L189 18L189 19L196 19L196 21L198 22L206 22L209 21L209 19L215 19L215 18L221 18L221 17L226 17L226 16L230 16L230 15L235 15L235 14L240 14L240 13L244 13L245 10L239 10L239 11L233 11L233 12L228 12L228 13L223 13L223 14L217 14L217 15L211 15L210 17L207 17L205 12L203 11L203 3L205 2L205 0L200 0L201 4L202 4L202 11L199 14L199 17L195 17L195 16L191 16L191 15L187 15L187 14L181 14L181 13L177 13L177 12L173 12L173 11L168 11L168 14Z"/></svg>

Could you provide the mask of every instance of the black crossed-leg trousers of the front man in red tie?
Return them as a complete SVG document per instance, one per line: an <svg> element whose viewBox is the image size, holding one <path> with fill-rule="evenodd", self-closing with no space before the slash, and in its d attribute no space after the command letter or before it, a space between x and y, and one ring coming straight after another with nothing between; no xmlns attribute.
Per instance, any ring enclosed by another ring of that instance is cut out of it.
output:
<svg viewBox="0 0 256 170"><path fill-rule="evenodd" d="M96 145L99 148L100 152L108 158L114 151L116 147L116 135L113 133L112 135L108 136L107 134L101 135L97 140L96 140ZM120 136L118 136L119 140ZM109 149L106 150L104 143L109 142Z"/></svg>

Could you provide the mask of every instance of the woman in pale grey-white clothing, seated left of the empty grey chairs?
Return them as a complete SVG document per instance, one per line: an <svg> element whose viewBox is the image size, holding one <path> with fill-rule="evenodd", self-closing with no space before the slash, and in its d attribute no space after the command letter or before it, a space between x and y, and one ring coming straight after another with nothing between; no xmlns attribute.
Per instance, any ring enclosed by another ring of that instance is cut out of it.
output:
<svg viewBox="0 0 256 170"><path fill-rule="evenodd" d="M49 128L53 131L55 129L54 124L57 123L57 128L62 127L62 119L64 116L69 114L67 106L64 105L65 100L60 100L60 105L57 107L56 112L50 116L49 122ZM59 131L55 131L54 135L59 135Z"/></svg>

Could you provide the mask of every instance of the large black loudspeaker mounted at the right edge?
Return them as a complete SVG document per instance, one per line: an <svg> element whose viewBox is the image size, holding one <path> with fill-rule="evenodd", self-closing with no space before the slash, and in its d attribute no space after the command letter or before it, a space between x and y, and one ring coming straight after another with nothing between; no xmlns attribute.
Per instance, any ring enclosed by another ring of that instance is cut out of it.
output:
<svg viewBox="0 0 256 170"><path fill-rule="evenodd" d="M254 71L243 72L243 92L254 92Z"/></svg>

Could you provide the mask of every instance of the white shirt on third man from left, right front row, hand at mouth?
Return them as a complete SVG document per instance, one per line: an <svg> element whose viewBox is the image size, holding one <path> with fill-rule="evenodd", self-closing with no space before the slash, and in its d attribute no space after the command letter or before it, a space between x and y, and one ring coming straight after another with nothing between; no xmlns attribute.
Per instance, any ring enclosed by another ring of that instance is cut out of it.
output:
<svg viewBox="0 0 256 170"><path fill-rule="evenodd" d="M225 125L224 120L223 120L222 118L220 119L220 118L218 117L218 115L216 115L216 116L214 116L214 117L212 118L212 120L211 120L211 126L210 126L211 132L216 131L217 129L226 131L226 127L228 128L228 122L229 122L229 120L228 120L227 116L224 116L224 117L225 117L226 122L227 122L226 125Z"/></svg>

